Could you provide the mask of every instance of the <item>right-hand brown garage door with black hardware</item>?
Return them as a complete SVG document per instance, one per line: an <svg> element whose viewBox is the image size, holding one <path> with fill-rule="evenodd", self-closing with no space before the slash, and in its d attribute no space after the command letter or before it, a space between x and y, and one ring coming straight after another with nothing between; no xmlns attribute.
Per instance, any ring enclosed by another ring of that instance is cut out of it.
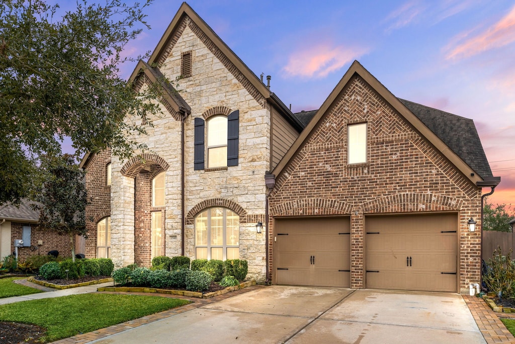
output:
<svg viewBox="0 0 515 344"><path fill-rule="evenodd" d="M368 288L456 291L457 215L366 218Z"/></svg>

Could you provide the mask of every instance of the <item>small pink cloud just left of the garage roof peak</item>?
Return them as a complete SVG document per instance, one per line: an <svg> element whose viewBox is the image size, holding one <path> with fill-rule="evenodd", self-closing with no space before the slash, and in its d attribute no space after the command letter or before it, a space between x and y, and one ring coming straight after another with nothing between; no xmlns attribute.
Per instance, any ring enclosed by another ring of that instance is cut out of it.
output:
<svg viewBox="0 0 515 344"><path fill-rule="evenodd" d="M365 53L365 48L319 44L291 53L283 71L288 76L323 78Z"/></svg>

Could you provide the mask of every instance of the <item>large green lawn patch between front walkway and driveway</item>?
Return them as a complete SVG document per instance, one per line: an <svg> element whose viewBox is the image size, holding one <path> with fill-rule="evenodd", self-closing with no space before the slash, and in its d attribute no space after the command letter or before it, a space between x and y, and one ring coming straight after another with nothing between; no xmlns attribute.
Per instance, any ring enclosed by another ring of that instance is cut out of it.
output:
<svg viewBox="0 0 515 344"><path fill-rule="evenodd" d="M0 305L0 321L42 326L45 342L103 329L190 303L159 296L80 294Z"/></svg>

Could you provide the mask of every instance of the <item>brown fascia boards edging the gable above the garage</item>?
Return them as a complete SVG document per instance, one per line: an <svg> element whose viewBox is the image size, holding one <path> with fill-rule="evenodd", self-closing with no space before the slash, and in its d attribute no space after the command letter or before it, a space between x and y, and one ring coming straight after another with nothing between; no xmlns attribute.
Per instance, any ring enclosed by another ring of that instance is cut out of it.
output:
<svg viewBox="0 0 515 344"><path fill-rule="evenodd" d="M304 142L310 136L312 130L317 126L321 117L327 112L327 110L332 106L333 102L337 99L338 95L345 89L347 83L351 80L354 74L359 75L363 78L372 89L374 89L380 96L382 96L395 110L397 110L401 116L403 116L417 131L420 132L422 136L424 136L430 143L438 149L445 158L447 158L454 166L456 166L461 173L466 176L474 185L477 182L483 181L481 177L472 169L469 165L467 165L457 154L452 151L445 143L443 143L440 138L431 131L431 129L427 128L420 119L415 116L411 111L408 110L402 104L402 102L394 96L384 85L379 82L370 72L368 72L365 67L358 61L354 61L352 65L349 67L349 70L344 74L344 76L340 79L336 87L333 89L331 94L325 101L323 102L320 109L318 109L317 113L314 116L314 119L306 126L304 131L299 135L298 139L295 141L293 146L286 152L283 159L279 162L279 164L274 168L272 173L279 177L282 170L290 159L294 157L297 151L303 146Z"/></svg>

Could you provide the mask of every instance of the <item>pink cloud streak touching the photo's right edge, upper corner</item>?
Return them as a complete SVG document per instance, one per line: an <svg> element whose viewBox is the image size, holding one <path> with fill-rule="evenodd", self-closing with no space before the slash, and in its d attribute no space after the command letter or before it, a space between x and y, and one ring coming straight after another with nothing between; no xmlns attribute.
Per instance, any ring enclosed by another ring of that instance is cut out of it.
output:
<svg viewBox="0 0 515 344"><path fill-rule="evenodd" d="M451 47L447 59L468 58L483 51L499 48L515 41L515 6L499 22L483 32Z"/></svg>

